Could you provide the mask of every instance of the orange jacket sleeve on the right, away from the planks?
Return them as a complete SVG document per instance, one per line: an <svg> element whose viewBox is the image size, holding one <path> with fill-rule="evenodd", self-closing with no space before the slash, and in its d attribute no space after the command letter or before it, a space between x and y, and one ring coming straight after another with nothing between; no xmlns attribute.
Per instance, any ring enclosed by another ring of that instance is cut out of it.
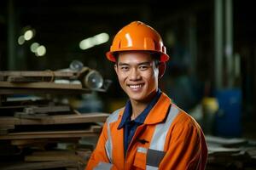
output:
<svg viewBox="0 0 256 170"><path fill-rule="evenodd" d="M203 170L207 161L207 144L196 123L177 123L171 129L171 138L160 169Z"/></svg>

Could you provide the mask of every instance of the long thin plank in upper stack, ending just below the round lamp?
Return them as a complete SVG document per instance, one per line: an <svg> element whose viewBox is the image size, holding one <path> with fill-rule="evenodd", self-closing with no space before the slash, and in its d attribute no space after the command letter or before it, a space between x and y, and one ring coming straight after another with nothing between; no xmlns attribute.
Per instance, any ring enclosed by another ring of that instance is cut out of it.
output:
<svg viewBox="0 0 256 170"><path fill-rule="evenodd" d="M82 89L81 84L66 84L55 82L0 82L0 88L59 88L59 89Z"/></svg>

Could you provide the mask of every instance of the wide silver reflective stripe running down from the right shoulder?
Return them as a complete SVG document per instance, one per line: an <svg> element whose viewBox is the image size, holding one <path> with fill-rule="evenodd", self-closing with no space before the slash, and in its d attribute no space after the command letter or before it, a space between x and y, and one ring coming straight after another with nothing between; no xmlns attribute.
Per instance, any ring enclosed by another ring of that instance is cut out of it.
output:
<svg viewBox="0 0 256 170"><path fill-rule="evenodd" d="M154 134L149 146L151 150L160 150L160 151L164 150L164 146L166 143L166 135L169 131L169 128L172 125L173 120L175 119L178 113L179 111L177 109L177 106L171 105L166 122L162 122L156 125L154 129Z"/></svg>

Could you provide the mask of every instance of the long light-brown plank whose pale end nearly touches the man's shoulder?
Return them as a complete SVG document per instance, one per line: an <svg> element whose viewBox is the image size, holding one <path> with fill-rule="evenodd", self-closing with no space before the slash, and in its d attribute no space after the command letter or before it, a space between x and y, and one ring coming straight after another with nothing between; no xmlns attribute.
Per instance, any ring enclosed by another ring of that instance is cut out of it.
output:
<svg viewBox="0 0 256 170"><path fill-rule="evenodd" d="M69 123L84 123L84 122L105 122L108 118L108 113L86 113L81 115L58 115L47 116L44 119L20 119L13 116L0 117L2 125L44 125L44 124L69 124Z"/></svg>

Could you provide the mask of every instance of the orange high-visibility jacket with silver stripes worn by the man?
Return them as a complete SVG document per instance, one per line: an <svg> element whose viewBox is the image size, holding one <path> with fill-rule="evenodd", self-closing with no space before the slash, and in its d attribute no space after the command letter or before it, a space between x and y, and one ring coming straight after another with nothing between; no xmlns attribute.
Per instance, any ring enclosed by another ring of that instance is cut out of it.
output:
<svg viewBox="0 0 256 170"><path fill-rule="evenodd" d="M207 144L194 118L172 104L166 94L148 113L124 154L124 129L118 129L124 109L114 111L86 169L202 170L207 162Z"/></svg>

